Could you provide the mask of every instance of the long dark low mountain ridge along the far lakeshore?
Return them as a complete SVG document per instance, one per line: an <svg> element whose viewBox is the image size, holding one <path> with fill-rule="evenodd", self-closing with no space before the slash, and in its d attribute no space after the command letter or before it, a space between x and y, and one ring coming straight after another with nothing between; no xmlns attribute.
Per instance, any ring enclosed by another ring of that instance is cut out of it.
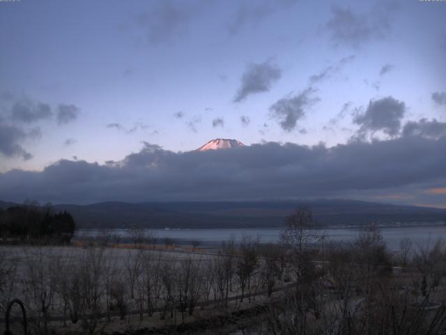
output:
<svg viewBox="0 0 446 335"><path fill-rule="evenodd" d="M13 205L1 202L0 207ZM69 211L81 228L273 228L281 227L298 206L312 207L321 225L433 223L446 221L446 210L357 200L296 200L257 202L98 202L56 204Z"/></svg>

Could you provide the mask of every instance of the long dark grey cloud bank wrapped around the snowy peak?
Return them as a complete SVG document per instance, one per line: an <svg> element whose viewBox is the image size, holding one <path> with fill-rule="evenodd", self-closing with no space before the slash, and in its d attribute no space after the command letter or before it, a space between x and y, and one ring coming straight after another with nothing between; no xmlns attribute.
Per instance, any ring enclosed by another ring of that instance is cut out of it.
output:
<svg viewBox="0 0 446 335"><path fill-rule="evenodd" d="M331 148L267 142L174 153L144 143L141 151L119 162L61 160L41 172L0 174L0 199L89 203L373 198L398 193L415 194L410 202L433 203L443 197L444 203L441 190L429 190L446 186L446 136L424 137L430 126L422 121L408 126L407 135Z"/></svg>

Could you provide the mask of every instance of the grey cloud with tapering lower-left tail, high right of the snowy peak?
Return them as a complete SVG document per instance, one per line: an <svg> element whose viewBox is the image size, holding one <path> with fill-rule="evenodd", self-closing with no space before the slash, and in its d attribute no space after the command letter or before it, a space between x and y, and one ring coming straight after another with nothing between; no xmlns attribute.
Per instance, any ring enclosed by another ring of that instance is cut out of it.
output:
<svg viewBox="0 0 446 335"><path fill-rule="evenodd" d="M234 98L235 103L245 100L249 94L269 91L272 84L282 76L279 66L271 59L263 63L249 64L241 78L241 84Z"/></svg>

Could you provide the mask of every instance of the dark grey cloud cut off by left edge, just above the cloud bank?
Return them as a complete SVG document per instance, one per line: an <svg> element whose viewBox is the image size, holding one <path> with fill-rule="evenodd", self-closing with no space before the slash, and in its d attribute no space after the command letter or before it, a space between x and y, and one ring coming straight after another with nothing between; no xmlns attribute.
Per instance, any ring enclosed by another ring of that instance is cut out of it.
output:
<svg viewBox="0 0 446 335"><path fill-rule="evenodd" d="M29 154L20 142L25 140L26 137L36 136L36 131L32 131L31 134L27 134L22 129L16 126L10 126L4 124L0 120L0 154L8 158L22 157L25 161L33 157Z"/></svg>

